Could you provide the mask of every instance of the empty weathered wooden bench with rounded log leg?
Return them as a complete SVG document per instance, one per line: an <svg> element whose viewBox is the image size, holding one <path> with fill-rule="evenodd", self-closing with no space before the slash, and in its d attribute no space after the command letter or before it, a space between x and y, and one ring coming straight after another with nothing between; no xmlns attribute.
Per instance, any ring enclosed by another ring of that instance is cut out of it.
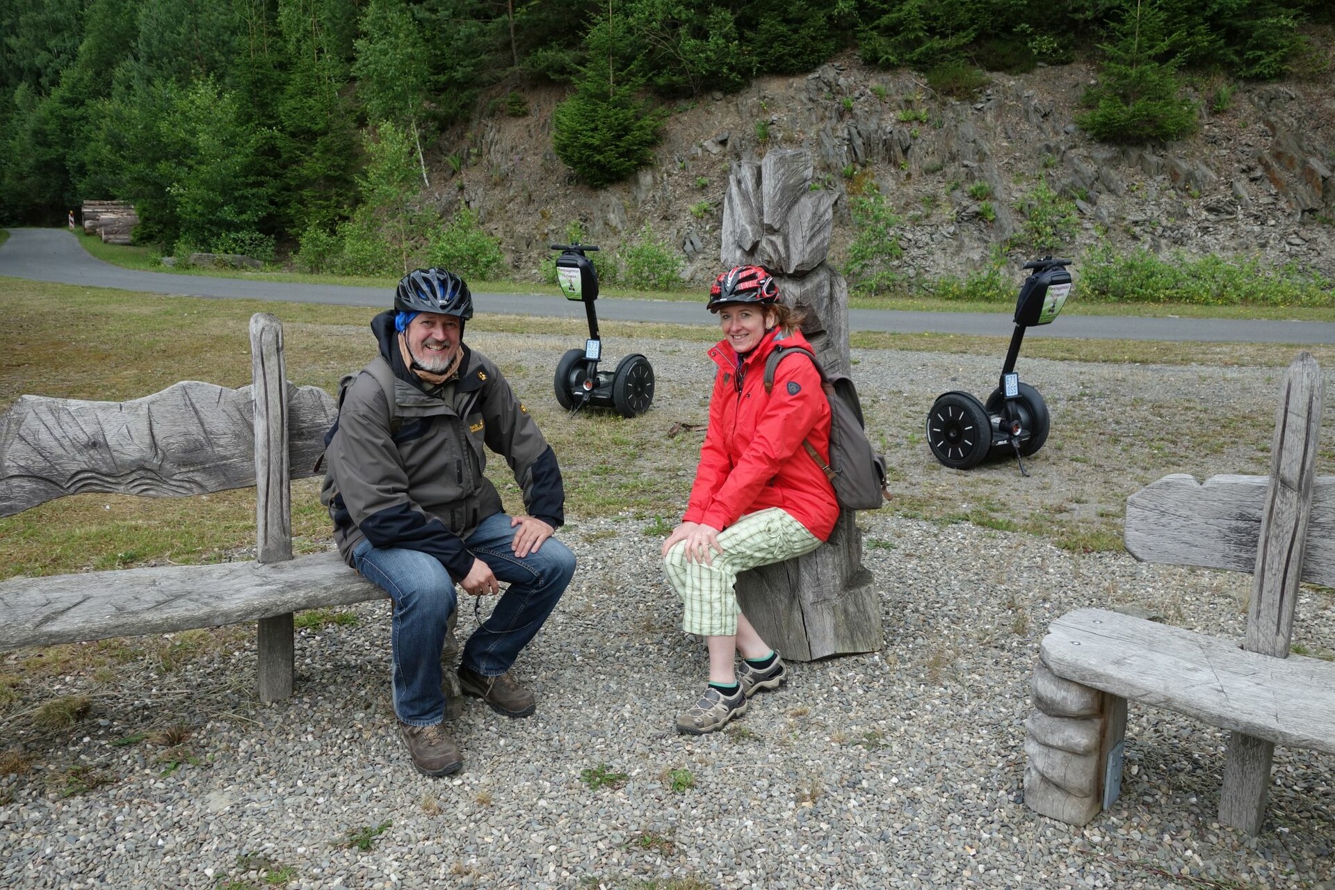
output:
<svg viewBox="0 0 1335 890"><path fill-rule="evenodd" d="M1084 825L1117 798L1127 703L1165 707L1232 733L1219 821L1250 834L1266 815L1275 745L1335 754L1335 663L1290 655L1299 582L1335 586L1335 476L1315 478L1316 360L1284 376L1270 476L1175 474L1127 500L1137 559L1248 571L1243 640L1100 608L1055 620L1025 721L1025 803Z"/></svg>

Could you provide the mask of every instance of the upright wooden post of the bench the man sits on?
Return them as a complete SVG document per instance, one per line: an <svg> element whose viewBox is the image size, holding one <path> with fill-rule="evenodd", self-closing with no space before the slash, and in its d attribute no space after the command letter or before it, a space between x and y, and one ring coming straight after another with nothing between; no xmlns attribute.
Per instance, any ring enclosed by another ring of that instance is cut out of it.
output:
<svg viewBox="0 0 1335 890"><path fill-rule="evenodd" d="M255 399L255 559L292 558L291 476L287 459L287 368L283 326L268 312L251 316ZM259 619L259 701L292 694L292 612Z"/></svg>

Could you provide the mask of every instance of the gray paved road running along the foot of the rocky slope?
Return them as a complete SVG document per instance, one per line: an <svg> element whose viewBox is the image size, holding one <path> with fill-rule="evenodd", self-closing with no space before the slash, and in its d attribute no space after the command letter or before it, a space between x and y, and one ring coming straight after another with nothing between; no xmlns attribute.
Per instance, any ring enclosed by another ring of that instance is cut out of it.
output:
<svg viewBox="0 0 1335 890"><path fill-rule="evenodd" d="M80 247L73 235L59 228L9 230L9 240L0 246L0 278L88 284L125 291L147 291L150 294L330 303L335 306L384 306L390 299L387 288L287 284L280 282L125 270L93 259ZM0 292L3 292L3 286L0 286ZM474 294L474 303L479 312L579 319L585 316L582 304L570 303L554 294ZM622 322L712 324L710 316L698 303L673 303L669 300L599 298L598 318ZM1009 312L850 310L849 323L854 331L897 331L901 334L932 331L939 334L1008 336L1012 331ZM1151 319L1108 315L1064 315L1049 326L1031 328L1028 336L1332 344L1335 343L1335 322L1251 322L1238 319Z"/></svg>

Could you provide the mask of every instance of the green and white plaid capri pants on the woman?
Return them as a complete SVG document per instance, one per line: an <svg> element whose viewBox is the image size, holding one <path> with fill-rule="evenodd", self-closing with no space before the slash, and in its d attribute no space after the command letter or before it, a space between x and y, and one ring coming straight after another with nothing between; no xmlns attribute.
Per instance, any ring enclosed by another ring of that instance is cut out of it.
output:
<svg viewBox="0 0 1335 890"><path fill-rule="evenodd" d="M778 507L749 512L718 532L721 554L713 563L686 562L686 542L677 542L663 558L668 583L681 598L681 628L702 636L737 634L737 574L756 566L809 554L821 539Z"/></svg>

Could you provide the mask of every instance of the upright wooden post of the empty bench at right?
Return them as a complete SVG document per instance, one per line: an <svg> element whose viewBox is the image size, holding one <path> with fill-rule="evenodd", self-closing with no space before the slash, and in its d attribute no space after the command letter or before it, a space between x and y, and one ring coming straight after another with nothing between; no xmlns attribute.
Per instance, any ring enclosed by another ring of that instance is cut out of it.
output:
<svg viewBox="0 0 1335 890"><path fill-rule="evenodd" d="M1307 523L1312 511L1316 450L1322 426L1322 374L1316 359L1300 352L1284 375L1275 410L1270 487L1260 519L1260 540L1247 610L1243 648L1275 658L1288 656L1294 606L1303 576ZM1228 738L1219 821L1248 834L1266 819L1266 791L1275 745L1234 733Z"/></svg>

